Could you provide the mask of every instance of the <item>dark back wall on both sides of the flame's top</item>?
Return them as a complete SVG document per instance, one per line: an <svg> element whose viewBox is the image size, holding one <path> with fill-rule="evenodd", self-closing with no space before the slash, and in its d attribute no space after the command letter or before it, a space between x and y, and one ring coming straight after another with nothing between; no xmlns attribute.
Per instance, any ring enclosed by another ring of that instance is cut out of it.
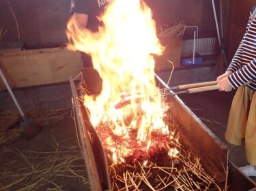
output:
<svg viewBox="0 0 256 191"><path fill-rule="evenodd" d="M26 48L47 48L66 43L70 0L8 0L16 15L20 38ZM3 41L16 41L16 22L8 3L0 0L0 29L8 29ZM210 0L146 0L152 7L157 27L183 20L199 26L199 36L216 36ZM216 1L218 5L218 1ZM217 6L218 7L218 6ZM131 13L132 14L132 13Z"/></svg>

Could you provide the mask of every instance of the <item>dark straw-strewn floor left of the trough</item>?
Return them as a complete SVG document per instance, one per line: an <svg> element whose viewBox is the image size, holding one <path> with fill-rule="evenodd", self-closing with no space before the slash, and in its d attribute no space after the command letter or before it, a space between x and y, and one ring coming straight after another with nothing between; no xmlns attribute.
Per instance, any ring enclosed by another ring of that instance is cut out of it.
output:
<svg viewBox="0 0 256 191"><path fill-rule="evenodd" d="M74 121L68 116L44 125L30 141L18 137L0 145L0 158L0 190L89 191Z"/></svg>

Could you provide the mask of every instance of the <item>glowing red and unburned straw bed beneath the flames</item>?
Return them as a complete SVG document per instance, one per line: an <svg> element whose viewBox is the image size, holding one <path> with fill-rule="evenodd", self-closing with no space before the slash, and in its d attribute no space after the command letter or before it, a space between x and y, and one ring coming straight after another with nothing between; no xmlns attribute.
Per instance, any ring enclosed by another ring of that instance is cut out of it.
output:
<svg viewBox="0 0 256 191"><path fill-rule="evenodd" d="M144 146L137 143L136 131L128 131L127 140L111 133L111 125L101 123L96 131L105 148L113 190L222 190L202 167L201 158L174 138L179 137L178 133L173 133L171 139L152 132L152 146L145 152L141 149ZM173 123L169 123L169 130L175 132ZM116 147L118 154L127 145L130 156L121 162L113 158L113 150L106 149Z"/></svg>

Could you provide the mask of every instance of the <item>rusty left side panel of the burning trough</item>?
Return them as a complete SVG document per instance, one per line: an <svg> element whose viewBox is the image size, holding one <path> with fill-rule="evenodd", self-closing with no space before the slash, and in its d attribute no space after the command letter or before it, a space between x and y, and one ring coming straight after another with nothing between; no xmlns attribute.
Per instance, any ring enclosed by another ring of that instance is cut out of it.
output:
<svg viewBox="0 0 256 191"><path fill-rule="evenodd" d="M106 156L102 144L93 126L85 118L88 114L78 99L81 95L79 95L72 78L70 78L70 86L75 112L76 130L79 134L79 142L85 160L89 186L94 191L111 190L109 171L107 170Z"/></svg>

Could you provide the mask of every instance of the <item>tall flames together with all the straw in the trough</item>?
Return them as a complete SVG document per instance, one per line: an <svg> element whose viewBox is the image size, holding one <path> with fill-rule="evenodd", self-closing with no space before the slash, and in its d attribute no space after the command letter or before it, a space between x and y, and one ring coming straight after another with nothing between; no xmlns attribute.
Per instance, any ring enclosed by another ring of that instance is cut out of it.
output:
<svg viewBox="0 0 256 191"><path fill-rule="evenodd" d="M174 137L175 126L164 122L166 104L156 87L154 55L164 52L158 37L179 37L184 24L156 35L150 7L139 0L112 1L100 20L94 33L73 16L67 35L68 48L90 54L102 78L100 94L83 94L83 104L102 140L113 190L220 190Z"/></svg>

